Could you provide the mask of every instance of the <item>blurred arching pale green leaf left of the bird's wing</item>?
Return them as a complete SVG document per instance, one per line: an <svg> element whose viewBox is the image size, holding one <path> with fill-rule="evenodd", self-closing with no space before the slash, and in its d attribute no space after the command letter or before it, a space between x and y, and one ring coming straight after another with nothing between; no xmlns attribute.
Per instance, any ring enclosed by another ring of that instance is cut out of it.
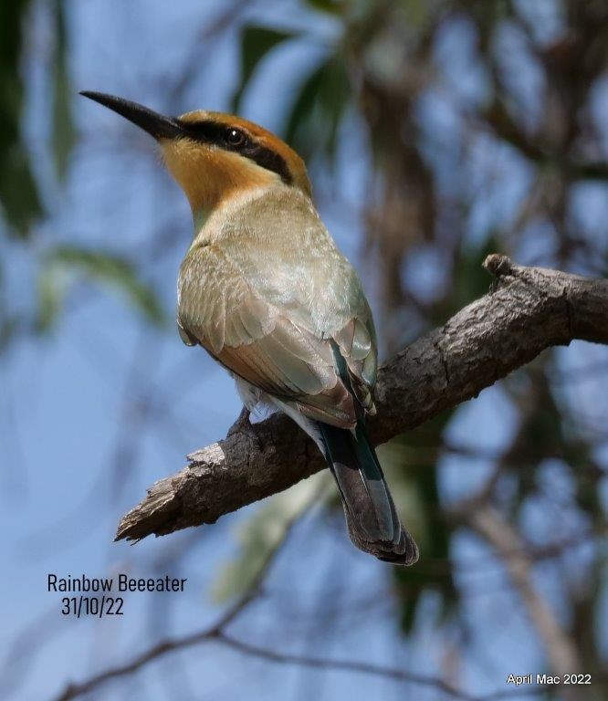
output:
<svg viewBox="0 0 608 701"><path fill-rule="evenodd" d="M154 326L162 326L166 320L156 293L139 279L125 258L77 246L58 246L44 256L38 276L38 330L51 329L68 289L79 281L115 288Z"/></svg>

